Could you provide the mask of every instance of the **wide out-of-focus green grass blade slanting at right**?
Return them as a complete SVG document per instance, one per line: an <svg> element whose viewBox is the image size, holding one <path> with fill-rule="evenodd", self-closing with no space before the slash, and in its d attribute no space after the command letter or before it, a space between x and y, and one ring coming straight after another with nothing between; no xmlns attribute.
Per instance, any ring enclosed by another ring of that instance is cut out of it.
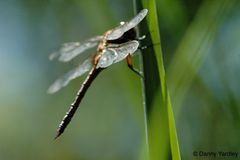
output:
<svg viewBox="0 0 240 160"><path fill-rule="evenodd" d="M235 0L205 1L179 44L167 73L176 117L182 110L184 97L192 81L214 43L218 28L235 2Z"/></svg>

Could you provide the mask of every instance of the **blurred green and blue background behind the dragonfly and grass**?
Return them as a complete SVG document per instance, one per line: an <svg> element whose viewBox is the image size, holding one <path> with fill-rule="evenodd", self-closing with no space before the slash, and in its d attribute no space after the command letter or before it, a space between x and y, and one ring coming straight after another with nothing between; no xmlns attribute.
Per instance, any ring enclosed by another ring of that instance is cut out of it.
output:
<svg viewBox="0 0 240 160"><path fill-rule="evenodd" d="M156 2L182 159L196 158L192 152L199 150L240 154L239 1ZM79 63L50 62L49 53L133 15L128 0L0 0L1 160L141 158L141 81L126 62L97 77L56 141L57 126L85 76L46 93Z"/></svg>

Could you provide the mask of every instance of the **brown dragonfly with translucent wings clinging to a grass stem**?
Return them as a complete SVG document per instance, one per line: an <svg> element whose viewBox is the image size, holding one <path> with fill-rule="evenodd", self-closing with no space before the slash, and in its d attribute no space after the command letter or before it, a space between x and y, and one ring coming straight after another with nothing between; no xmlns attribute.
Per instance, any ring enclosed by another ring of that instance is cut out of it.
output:
<svg viewBox="0 0 240 160"><path fill-rule="evenodd" d="M147 9L141 10L135 17L128 22L121 22L119 26L108 30L103 35L89 38L82 43L65 43L57 51L49 55L50 60L58 59L60 62L69 62L84 51L97 47L94 55L86 58L80 65L67 72L63 77L57 79L48 89L52 94L67 86L69 82L88 72L88 75L82 83L77 95L66 112L61 123L58 126L55 139L58 138L66 129L76 110L78 109L85 93L92 84L97 75L112 64L127 60L128 67L142 76L132 65L131 57L139 48L139 41L143 37L137 38L136 26L146 17Z"/></svg>

